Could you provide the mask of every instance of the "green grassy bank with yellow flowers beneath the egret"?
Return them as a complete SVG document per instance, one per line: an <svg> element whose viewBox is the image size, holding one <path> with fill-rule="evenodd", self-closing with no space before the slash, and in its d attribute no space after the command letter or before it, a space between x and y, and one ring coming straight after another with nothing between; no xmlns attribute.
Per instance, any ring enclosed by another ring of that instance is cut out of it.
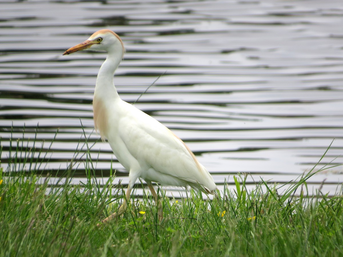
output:
<svg viewBox="0 0 343 257"><path fill-rule="evenodd" d="M12 165L0 168L1 256L343 255L342 188L331 197L320 190L305 194L313 170L297 183L271 186L262 180L251 191L246 175L234 176L235 189L226 187L213 200L195 191L179 200L162 195L162 222L151 195L132 196L122 218L97 228L123 199L113 177L100 186L87 158L86 183L73 185L68 169L65 183L49 185L49 175L40 182L36 174L41 163L32 161L32 150L17 143L11 151ZM28 170L19 165L23 161ZM282 194L280 187L286 188Z"/></svg>

